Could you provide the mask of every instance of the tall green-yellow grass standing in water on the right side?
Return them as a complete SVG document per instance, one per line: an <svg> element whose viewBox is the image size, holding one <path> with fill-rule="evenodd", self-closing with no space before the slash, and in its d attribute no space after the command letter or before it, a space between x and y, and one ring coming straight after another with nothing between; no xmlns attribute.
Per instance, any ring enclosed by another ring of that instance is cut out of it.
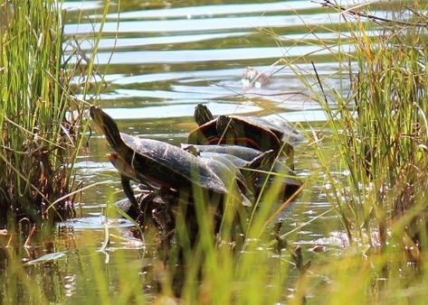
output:
<svg viewBox="0 0 428 305"><path fill-rule="evenodd" d="M385 245L387 233L404 218L407 233L416 237L410 223L423 217L428 53L425 29L412 25L419 24L417 17L405 26L381 27L377 36L366 32L373 24L347 23L355 46L348 66L349 94L317 81L318 99L333 131L330 140L338 146L335 162L347 172L344 180L328 176L330 194L351 242L366 236L370 245ZM328 172L331 158L322 146L318 152ZM378 235L370 234L374 226Z"/></svg>

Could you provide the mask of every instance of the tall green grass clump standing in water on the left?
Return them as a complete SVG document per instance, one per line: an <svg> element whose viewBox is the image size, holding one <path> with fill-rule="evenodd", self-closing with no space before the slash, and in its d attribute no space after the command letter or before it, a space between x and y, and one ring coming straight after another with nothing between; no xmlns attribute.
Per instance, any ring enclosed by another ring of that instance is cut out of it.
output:
<svg viewBox="0 0 428 305"><path fill-rule="evenodd" d="M62 63L61 3L1 5L0 223L68 217L72 199L57 199L72 189L82 122Z"/></svg>

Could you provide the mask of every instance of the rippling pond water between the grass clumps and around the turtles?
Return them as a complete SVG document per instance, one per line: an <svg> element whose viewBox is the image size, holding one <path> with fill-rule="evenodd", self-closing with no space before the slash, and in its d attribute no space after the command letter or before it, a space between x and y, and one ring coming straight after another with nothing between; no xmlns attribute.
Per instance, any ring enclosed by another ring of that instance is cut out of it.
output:
<svg viewBox="0 0 428 305"><path fill-rule="evenodd" d="M101 27L102 5L100 1L63 5L65 33L75 35L88 56L92 31ZM118 120L121 131L174 144L185 143L186 134L195 128L198 103L209 106L214 115L279 116L302 130L317 130L325 117L293 69L313 75L309 58L329 85L346 88L338 77L335 56L341 38L328 30L337 28L339 20L338 14L312 1L112 1L96 59L105 82L97 103ZM67 48L71 51L73 45ZM309 53L306 60L301 58ZM269 82L260 88L245 84L247 67L264 73ZM77 179L84 185L109 183L84 191L79 218L68 221L71 228L53 238L55 252L65 254L55 257L56 273L46 275L35 263L35 277L59 283L50 294L53 302L84 303L81 291L88 290L89 281L84 269L92 262L88 256L100 256L102 262L108 258L106 273L115 270L115 264L126 264L127 272L136 274L143 258L150 256L150 245L131 236L127 220L106 222L102 216L108 204L125 197L106 152L105 139L94 133L76 164ZM303 180L317 167L314 160L306 145L298 148L295 166ZM281 214L282 233L318 217L297 231L297 244L327 245L337 251L340 239L331 229L340 226L334 212L319 217L330 208L320 184L311 185L293 208ZM106 223L117 238L107 252L99 252ZM118 280L114 274L109 278L109 289L115 291Z"/></svg>

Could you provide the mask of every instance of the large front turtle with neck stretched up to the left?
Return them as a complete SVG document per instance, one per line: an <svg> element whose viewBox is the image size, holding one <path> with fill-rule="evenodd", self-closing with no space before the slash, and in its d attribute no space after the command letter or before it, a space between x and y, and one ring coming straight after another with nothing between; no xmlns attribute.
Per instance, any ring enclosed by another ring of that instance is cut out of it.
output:
<svg viewBox="0 0 428 305"><path fill-rule="evenodd" d="M191 197L194 188L212 197L228 194L224 181L192 153L170 143L120 133L116 122L98 106L90 106L90 117L115 152L110 160L119 170L125 194L135 209L139 207L130 180L164 189L167 194L185 191ZM241 195L234 193L233 199L248 204Z"/></svg>

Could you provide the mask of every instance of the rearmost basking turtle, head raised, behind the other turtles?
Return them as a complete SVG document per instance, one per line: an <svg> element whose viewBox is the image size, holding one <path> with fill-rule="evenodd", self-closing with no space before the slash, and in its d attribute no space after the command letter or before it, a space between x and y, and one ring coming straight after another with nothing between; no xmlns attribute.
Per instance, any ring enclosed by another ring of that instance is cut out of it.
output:
<svg viewBox="0 0 428 305"><path fill-rule="evenodd" d="M209 109L198 104L195 107L195 121L199 125L188 136L188 143L194 144L237 144L259 151L284 152L290 159L294 154L288 136L280 126L272 125L260 117L218 116L214 118Z"/></svg>

